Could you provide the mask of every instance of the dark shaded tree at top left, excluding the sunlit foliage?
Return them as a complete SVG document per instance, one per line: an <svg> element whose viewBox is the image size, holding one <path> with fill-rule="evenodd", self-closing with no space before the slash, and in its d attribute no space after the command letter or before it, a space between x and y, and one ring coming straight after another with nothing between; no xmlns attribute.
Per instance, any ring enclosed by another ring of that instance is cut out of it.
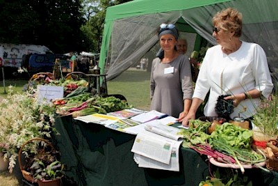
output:
<svg viewBox="0 0 278 186"><path fill-rule="evenodd" d="M46 45L56 53L83 46L81 3L68 0L0 1L0 42Z"/></svg>

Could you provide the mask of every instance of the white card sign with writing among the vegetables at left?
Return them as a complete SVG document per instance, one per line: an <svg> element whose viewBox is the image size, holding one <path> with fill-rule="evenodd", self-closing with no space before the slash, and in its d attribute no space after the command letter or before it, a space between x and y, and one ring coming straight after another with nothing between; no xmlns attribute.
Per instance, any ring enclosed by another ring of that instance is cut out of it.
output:
<svg viewBox="0 0 278 186"><path fill-rule="evenodd" d="M38 100L46 99L47 101L54 100L56 98L64 97L64 87L63 86L45 86L38 85Z"/></svg>

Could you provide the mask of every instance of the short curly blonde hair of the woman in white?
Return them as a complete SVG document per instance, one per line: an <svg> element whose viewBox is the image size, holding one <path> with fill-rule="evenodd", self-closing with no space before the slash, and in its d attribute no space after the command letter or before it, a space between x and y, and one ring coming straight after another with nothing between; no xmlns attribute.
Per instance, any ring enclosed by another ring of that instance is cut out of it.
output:
<svg viewBox="0 0 278 186"><path fill-rule="evenodd" d="M243 15L235 8L227 8L213 17L213 25L218 24L225 31L234 30L235 37L240 37L243 29Z"/></svg>

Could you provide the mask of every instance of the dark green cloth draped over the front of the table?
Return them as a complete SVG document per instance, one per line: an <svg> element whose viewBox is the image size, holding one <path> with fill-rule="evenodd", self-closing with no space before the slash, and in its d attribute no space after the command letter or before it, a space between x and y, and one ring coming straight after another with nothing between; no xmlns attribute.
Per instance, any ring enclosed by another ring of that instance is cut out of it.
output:
<svg viewBox="0 0 278 186"><path fill-rule="evenodd" d="M180 148L180 171L140 168L131 148L135 135L84 123L64 116L56 119L56 147L67 164L66 176L77 185L198 185L209 176L206 157ZM212 166L212 165L211 165ZM253 185L278 185L278 173L246 170Z"/></svg>

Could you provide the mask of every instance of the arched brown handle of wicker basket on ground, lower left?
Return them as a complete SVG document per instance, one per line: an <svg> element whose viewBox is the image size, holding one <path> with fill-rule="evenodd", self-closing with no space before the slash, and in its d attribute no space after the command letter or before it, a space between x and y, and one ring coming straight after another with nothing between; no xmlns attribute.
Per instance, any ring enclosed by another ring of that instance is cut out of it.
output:
<svg viewBox="0 0 278 186"><path fill-rule="evenodd" d="M34 178L31 175L31 173L29 173L28 171L24 170L24 166L22 165L22 160L20 158L20 155L22 154L22 149L24 148L24 146L26 146L27 144L31 143L32 141L44 141L47 145L49 145L53 150L55 150L54 146L47 141L46 139L42 139L42 138L33 138L33 139L29 139L28 141L26 141L21 148L19 148L18 151L18 163L19 163L19 168L22 171L22 176L28 180L29 182L33 183L34 182Z"/></svg>

